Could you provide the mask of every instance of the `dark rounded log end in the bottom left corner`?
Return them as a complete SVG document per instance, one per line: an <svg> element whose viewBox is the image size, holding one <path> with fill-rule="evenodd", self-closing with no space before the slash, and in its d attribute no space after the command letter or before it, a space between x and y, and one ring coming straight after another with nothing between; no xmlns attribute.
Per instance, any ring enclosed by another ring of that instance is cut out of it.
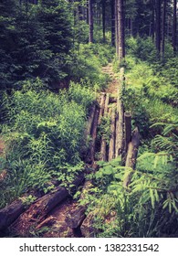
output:
<svg viewBox="0 0 178 256"><path fill-rule="evenodd" d="M0 230L6 229L25 211L25 209L25 204L23 204L23 201L20 199L9 206L2 208L0 210Z"/></svg>

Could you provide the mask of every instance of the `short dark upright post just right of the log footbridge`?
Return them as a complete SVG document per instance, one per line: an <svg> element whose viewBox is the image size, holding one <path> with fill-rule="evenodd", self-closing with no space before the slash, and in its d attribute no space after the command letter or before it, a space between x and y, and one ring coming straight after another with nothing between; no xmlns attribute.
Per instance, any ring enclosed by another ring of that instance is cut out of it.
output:
<svg viewBox="0 0 178 256"><path fill-rule="evenodd" d="M124 127L125 127L124 148L125 148L125 153L127 153L128 144L131 142L131 112L124 113Z"/></svg>

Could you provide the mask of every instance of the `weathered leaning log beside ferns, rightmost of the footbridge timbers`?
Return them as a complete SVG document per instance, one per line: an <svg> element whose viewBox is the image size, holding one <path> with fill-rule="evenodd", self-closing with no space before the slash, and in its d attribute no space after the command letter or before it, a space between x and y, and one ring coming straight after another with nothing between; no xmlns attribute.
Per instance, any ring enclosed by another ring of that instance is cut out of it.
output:
<svg viewBox="0 0 178 256"><path fill-rule="evenodd" d="M131 142L128 145L128 152L126 157L126 167L130 167L131 170L135 169L136 159L138 154L138 148L140 144L140 133L139 129L135 128L132 132ZM123 187L129 187L131 183L132 171L126 170L126 175L123 178Z"/></svg>

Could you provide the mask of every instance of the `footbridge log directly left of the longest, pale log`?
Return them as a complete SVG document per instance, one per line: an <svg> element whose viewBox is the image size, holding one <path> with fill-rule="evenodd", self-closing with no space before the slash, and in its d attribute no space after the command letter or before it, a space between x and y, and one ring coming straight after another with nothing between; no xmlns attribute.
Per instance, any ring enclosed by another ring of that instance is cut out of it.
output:
<svg viewBox="0 0 178 256"><path fill-rule="evenodd" d="M110 144L109 144L109 161L115 156L115 109L111 110L110 117Z"/></svg>

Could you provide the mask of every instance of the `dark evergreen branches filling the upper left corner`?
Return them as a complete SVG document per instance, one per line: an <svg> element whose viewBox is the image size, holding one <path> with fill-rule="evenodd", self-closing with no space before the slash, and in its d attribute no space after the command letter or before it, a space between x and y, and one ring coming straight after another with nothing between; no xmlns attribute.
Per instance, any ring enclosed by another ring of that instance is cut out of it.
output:
<svg viewBox="0 0 178 256"><path fill-rule="evenodd" d="M21 4L19 3L21 2ZM71 48L71 16L63 0L3 1L0 41L1 86L19 88L19 81L39 76L43 80L63 79Z"/></svg>

